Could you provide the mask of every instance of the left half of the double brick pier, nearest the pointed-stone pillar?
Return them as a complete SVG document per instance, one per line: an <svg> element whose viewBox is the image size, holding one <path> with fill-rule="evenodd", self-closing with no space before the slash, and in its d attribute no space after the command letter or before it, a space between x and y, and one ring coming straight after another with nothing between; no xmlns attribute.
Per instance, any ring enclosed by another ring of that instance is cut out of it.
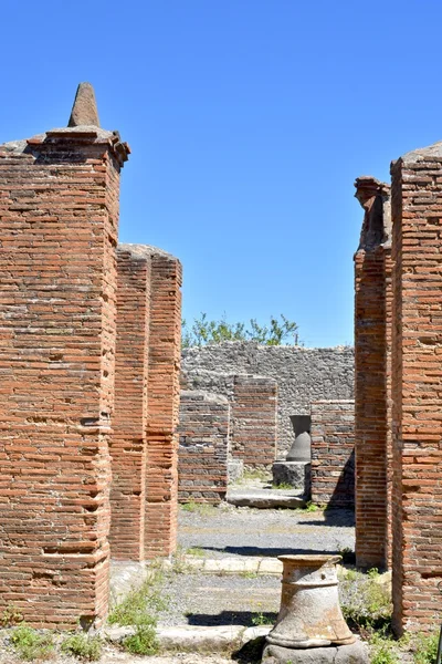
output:
<svg viewBox="0 0 442 664"><path fill-rule="evenodd" d="M112 436L110 548L115 559L144 560L150 253L117 250L117 342Z"/></svg>

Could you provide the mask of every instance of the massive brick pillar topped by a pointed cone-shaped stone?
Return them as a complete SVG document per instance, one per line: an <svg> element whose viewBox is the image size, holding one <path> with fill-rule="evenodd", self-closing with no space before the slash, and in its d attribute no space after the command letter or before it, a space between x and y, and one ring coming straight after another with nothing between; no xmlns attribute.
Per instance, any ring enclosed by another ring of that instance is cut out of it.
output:
<svg viewBox="0 0 442 664"><path fill-rule="evenodd" d="M0 146L0 610L46 627L99 623L107 611L128 148L97 123L82 85L69 128Z"/></svg>

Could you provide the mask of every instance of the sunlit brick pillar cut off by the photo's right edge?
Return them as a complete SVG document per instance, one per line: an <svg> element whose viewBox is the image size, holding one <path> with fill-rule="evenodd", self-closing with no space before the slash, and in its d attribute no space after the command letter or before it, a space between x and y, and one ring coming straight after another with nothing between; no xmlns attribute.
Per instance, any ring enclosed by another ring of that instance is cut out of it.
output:
<svg viewBox="0 0 442 664"><path fill-rule="evenodd" d="M441 620L442 149L392 166L393 623ZM439 618L438 618L439 616Z"/></svg>

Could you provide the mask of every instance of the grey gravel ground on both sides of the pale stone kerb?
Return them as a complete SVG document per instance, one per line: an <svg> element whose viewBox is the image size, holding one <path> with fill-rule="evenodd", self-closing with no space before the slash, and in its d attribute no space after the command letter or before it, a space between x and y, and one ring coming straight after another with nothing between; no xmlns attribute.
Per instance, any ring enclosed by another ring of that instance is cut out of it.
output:
<svg viewBox="0 0 442 664"><path fill-rule="evenodd" d="M276 557L354 550L350 511L260 510L222 505L180 509L179 543L206 558ZM191 552L191 551L190 551ZM274 622L281 583L275 575L173 573L165 582L161 625L252 625Z"/></svg>

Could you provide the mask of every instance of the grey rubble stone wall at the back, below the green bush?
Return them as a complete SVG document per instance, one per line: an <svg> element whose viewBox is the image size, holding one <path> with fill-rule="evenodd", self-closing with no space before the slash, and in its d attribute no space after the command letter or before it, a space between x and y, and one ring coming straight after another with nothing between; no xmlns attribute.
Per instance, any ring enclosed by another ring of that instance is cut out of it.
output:
<svg viewBox="0 0 442 664"><path fill-rule="evenodd" d="M347 346L303 349L223 342L185 349L182 370L185 378L191 374L192 386L209 392L219 392L217 385L225 383L225 374L273 377L278 388L277 456L281 458L285 458L295 439L290 415L308 415L313 401L354 397L354 350ZM204 375L207 371L213 372L211 380Z"/></svg>

